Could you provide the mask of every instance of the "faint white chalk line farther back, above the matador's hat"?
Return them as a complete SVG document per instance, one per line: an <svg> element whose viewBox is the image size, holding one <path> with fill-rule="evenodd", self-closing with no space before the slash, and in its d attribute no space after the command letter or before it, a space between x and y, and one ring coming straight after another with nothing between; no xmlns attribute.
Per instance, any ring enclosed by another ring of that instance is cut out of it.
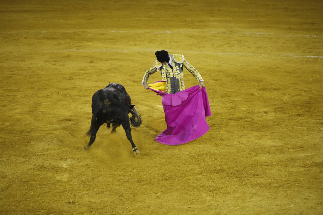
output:
<svg viewBox="0 0 323 215"><path fill-rule="evenodd" d="M210 33L210 34L250 34L250 35L276 35L276 36L293 36L293 37L311 37L311 38L319 38L318 35L302 35L302 34L281 34L281 33L263 33L263 32L235 32L235 33L229 33L227 31L128 31L128 30L114 30L114 31L102 31L102 30L75 30L75 31L3 31L0 32L0 34L18 34L18 33L78 33L78 32L94 32L94 33L153 33L153 34L178 34L178 33L185 33L185 34L191 34L191 33Z"/></svg>

